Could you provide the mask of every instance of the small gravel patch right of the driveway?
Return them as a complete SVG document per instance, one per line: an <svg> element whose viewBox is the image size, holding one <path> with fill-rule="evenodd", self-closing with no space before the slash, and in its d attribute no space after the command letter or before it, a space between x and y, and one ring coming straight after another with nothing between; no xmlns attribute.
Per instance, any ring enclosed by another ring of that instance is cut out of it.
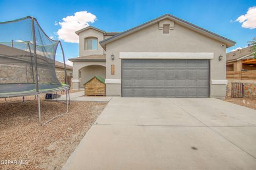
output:
<svg viewBox="0 0 256 170"><path fill-rule="evenodd" d="M226 98L224 101L256 109L256 98Z"/></svg>

